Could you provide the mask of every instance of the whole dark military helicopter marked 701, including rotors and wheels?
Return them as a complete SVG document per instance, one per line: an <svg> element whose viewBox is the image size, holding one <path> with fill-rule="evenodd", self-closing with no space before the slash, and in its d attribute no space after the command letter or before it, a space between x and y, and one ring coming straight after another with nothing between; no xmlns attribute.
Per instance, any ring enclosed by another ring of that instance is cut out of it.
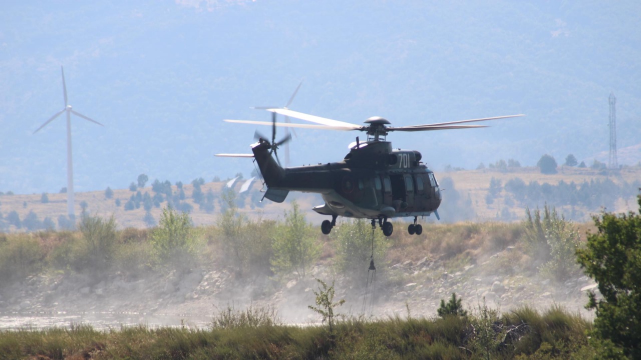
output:
<svg viewBox="0 0 641 360"><path fill-rule="evenodd" d="M422 226L417 224L418 217L434 214L438 220L438 206L442 200L441 190L434 172L420 160L420 152L414 150L392 149L387 141L392 131L433 131L445 129L469 129L487 127L470 125L470 122L506 119L524 116L506 115L482 119L440 122L435 124L392 127L382 117L370 117L363 126L338 120L326 119L288 108L269 108L272 121L224 120L241 124L272 127L271 142L266 136L256 132L258 142L251 145L253 154L216 154L217 156L240 156L254 158L267 186L263 198L283 202L288 193L319 193L325 204L315 206L313 211L320 215L331 216L320 225L323 234L329 234L340 217L368 218L372 228L379 227L385 236L390 236L394 227L390 218L413 217L408 233L420 235ZM315 124L279 123L276 114L306 120ZM367 140L349 144L349 152L342 161L302 167L283 168L278 159L278 147L291 140L291 135L276 142L276 127L297 127L303 129L323 129L338 131L363 131ZM276 156L272 157L272 154Z"/></svg>

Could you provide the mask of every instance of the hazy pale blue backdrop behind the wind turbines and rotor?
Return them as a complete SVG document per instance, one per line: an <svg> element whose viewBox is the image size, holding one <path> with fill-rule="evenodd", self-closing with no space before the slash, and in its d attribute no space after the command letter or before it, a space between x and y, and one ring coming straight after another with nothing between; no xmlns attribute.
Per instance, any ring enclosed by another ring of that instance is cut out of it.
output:
<svg viewBox="0 0 641 360"><path fill-rule="evenodd" d="M544 153L591 161L641 143L638 1L8 2L0 12L0 191L66 186L69 104L76 191L138 174L189 182L253 170L251 106L395 126L526 113L488 129L392 134L430 167ZM269 133L269 128L260 129ZM279 133L281 136L282 133ZM297 131L292 165L339 161L353 132ZM281 152L283 153L283 152Z"/></svg>

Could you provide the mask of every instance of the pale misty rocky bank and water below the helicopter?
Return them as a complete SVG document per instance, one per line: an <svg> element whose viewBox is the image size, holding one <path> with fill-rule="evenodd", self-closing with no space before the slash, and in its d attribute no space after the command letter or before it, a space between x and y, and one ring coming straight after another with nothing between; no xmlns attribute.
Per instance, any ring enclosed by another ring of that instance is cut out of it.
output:
<svg viewBox="0 0 641 360"><path fill-rule="evenodd" d="M314 304L315 277L335 280L335 300L345 299L338 312L348 315L433 317L441 299L456 293L463 306L488 306L509 311L518 306L540 310L553 305L591 318L585 310L587 291L596 284L585 276L555 282L538 274L509 271L509 247L487 261L460 268L428 256L419 261L379 264L376 283L362 275L333 275L329 263L314 266L303 279L274 281L265 276L237 279L224 268L199 266L183 270L149 271L138 277L113 274L47 274L28 277L0 289L0 329L65 327L88 323L96 328L144 324L206 327L212 316L236 309L273 307L288 323L319 321ZM503 259L503 260L502 260ZM372 272L369 273L372 275Z"/></svg>

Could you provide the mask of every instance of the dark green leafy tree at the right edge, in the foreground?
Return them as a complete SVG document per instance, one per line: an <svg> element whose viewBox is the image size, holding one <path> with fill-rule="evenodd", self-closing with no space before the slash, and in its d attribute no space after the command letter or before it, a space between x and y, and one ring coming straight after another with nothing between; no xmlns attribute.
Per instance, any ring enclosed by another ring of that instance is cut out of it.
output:
<svg viewBox="0 0 641 360"><path fill-rule="evenodd" d="M641 212L641 195L638 197ZM585 273L599 284L603 299L590 292L588 309L596 310L595 334L641 358L641 215L602 213L593 217L597 233L588 234L577 251Z"/></svg>

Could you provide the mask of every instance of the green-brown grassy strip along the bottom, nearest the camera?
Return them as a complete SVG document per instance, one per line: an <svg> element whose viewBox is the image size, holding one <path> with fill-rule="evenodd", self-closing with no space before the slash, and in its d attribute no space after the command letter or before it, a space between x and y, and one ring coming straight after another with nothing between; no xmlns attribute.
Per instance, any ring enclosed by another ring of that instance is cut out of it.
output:
<svg viewBox="0 0 641 360"><path fill-rule="evenodd" d="M324 326L253 321L259 313L227 314L210 329L3 331L0 359L587 359L597 352L585 335L591 323L559 307L501 316L479 306L467 317L351 318L337 322L333 334Z"/></svg>

